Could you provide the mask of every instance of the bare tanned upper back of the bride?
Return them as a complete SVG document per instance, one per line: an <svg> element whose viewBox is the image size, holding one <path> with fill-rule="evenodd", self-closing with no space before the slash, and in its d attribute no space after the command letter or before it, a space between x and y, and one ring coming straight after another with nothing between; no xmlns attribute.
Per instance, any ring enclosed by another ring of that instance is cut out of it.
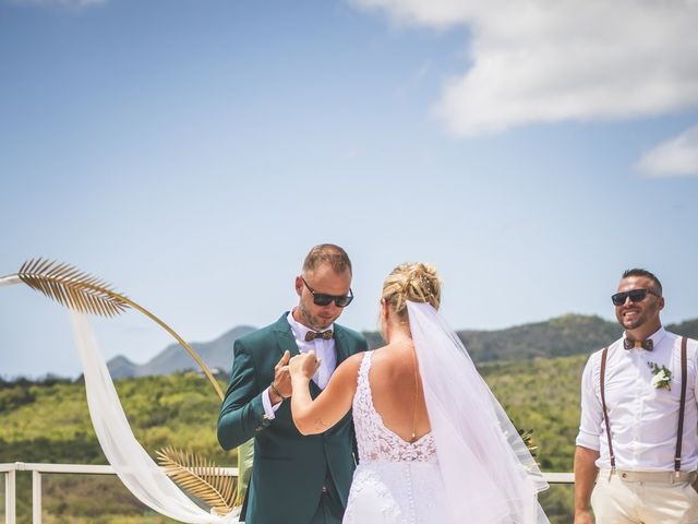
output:
<svg viewBox="0 0 698 524"><path fill-rule="evenodd" d="M369 371L375 410L383 418L384 426L407 442L431 431L416 366L411 344L388 344L374 352Z"/></svg>

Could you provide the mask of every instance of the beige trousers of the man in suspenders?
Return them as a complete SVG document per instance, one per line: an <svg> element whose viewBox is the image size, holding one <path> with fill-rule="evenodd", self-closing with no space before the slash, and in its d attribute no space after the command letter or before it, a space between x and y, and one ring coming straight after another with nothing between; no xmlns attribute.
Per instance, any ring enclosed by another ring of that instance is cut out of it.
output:
<svg viewBox="0 0 698 524"><path fill-rule="evenodd" d="M696 473L599 472L591 493L597 524L698 524Z"/></svg>

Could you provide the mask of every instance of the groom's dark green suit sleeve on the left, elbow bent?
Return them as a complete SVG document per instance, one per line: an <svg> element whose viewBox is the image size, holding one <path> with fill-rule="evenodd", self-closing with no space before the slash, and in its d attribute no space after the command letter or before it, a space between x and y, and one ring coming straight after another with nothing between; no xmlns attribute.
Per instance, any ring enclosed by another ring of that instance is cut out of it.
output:
<svg viewBox="0 0 698 524"><path fill-rule="evenodd" d="M232 353L230 383L218 416L218 442L224 450L237 448L269 425L252 355L240 341Z"/></svg>

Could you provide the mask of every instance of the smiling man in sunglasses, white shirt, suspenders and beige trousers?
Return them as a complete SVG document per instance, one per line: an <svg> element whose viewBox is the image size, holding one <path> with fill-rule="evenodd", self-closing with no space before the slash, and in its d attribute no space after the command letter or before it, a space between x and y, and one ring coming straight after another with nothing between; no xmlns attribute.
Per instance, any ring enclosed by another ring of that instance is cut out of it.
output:
<svg viewBox="0 0 698 524"><path fill-rule="evenodd" d="M662 327L649 271L626 271L612 301L625 332L582 374L575 524L591 508L601 524L698 523L698 344Z"/></svg>

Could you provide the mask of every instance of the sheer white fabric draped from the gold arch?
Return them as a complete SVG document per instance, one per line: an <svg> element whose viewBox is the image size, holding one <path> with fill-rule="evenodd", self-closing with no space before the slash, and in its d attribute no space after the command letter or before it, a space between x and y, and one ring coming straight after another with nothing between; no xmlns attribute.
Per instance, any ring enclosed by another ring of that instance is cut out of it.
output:
<svg viewBox="0 0 698 524"><path fill-rule="evenodd" d="M87 317L74 311L70 311L70 317L83 364L92 424L123 485L145 505L170 519L192 524L237 523L234 514L212 515L196 505L141 446L131 431Z"/></svg>

